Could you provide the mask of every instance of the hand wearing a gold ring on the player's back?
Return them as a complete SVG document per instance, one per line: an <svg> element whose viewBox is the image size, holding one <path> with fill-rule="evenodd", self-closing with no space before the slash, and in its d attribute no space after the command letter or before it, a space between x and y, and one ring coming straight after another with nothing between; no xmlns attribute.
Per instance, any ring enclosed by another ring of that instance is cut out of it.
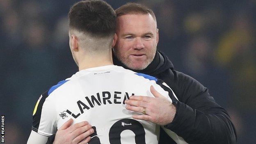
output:
<svg viewBox="0 0 256 144"><path fill-rule="evenodd" d="M149 96L130 96L125 103L126 109L134 112L145 113L143 115L133 115L133 119L151 121L160 126L165 126L171 123L176 114L176 107L167 98L162 96L153 86L150 91L155 98Z"/></svg>

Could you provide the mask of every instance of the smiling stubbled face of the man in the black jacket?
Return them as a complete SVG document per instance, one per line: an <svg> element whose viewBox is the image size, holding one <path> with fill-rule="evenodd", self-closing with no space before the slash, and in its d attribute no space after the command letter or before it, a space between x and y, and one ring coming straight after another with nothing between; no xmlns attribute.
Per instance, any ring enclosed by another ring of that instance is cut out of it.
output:
<svg viewBox="0 0 256 144"><path fill-rule="evenodd" d="M142 70L153 61L158 29L150 14L118 16L116 34L114 54L128 68Z"/></svg>

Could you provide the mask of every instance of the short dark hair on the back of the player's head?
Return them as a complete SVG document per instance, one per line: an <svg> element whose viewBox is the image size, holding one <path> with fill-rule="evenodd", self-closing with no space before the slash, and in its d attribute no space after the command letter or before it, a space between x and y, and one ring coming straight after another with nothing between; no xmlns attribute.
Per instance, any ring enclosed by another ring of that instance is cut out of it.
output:
<svg viewBox="0 0 256 144"><path fill-rule="evenodd" d="M91 37L113 37L116 26L114 9L103 0L75 3L69 11L69 28Z"/></svg>

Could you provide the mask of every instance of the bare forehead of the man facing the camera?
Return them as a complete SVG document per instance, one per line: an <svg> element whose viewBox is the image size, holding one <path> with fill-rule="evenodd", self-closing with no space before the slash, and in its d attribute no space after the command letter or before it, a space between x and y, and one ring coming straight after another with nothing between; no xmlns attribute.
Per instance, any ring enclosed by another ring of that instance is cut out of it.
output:
<svg viewBox="0 0 256 144"><path fill-rule="evenodd" d="M156 22L151 14L127 14L117 17L117 30L119 32L154 31Z"/></svg>

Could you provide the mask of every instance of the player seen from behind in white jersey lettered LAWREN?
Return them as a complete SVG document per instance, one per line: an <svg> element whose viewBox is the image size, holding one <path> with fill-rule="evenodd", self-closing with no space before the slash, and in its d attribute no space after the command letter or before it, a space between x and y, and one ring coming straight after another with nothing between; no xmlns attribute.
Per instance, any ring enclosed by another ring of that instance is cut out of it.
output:
<svg viewBox="0 0 256 144"><path fill-rule="evenodd" d="M129 111L125 102L133 95L154 97L150 91L155 90L157 98L169 105L176 96L161 80L113 65L115 24L115 12L104 1L81 1L71 7L69 45L79 71L39 97L28 144L46 143L70 118L79 128L69 127L75 136L67 143L158 143L159 125L133 119L151 110L141 105L138 112ZM174 136L170 130L167 133Z"/></svg>

